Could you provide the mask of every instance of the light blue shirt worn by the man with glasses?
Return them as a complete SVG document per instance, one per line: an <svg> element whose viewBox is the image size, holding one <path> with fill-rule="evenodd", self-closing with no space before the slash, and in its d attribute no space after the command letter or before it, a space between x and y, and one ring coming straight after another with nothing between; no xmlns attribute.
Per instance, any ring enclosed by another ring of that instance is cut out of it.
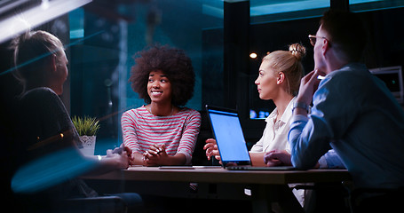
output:
<svg viewBox="0 0 404 213"><path fill-rule="evenodd" d="M294 115L292 163L309 169L331 146L357 187L404 186L404 112L385 84L361 64L326 75L312 113Z"/></svg>

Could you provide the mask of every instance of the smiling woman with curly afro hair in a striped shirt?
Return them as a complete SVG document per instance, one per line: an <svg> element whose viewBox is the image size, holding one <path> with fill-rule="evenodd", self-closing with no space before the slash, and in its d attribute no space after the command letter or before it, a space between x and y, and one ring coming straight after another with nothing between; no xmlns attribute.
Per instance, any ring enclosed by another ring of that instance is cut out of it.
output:
<svg viewBox="0 0 404 213"><path fill-rule="evenodd" d="M129 82L147 105L122 116L123 143L132 150L131 164L190 164L201 114L185 107L194 94L194 67L185 52L152 46L135 54Z"/></svg>

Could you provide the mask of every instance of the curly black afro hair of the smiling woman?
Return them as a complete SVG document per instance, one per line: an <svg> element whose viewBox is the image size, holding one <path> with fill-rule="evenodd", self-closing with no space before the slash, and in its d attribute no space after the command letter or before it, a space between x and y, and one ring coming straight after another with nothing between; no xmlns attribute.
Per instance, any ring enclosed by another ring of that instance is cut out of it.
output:
<svg viewBox="0 0 404 213"><path fill-rule="evenodd" d="M191 59L183 50L168 45L154 45L137 52L134 57L136 64L131 67L129 82L133 91L139 94L147 104L151 99L147 93L150 72L161 70L171 83L174 106L185 106L194 95L195 74Z"/></svg>

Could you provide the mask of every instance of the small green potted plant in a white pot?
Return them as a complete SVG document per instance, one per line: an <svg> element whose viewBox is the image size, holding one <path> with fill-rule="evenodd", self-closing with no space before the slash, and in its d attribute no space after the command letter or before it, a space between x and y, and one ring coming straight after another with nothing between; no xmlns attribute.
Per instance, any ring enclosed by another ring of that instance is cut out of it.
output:
<svg viewBox="0 0 404 213"><path fill-rule="evenodd" d="M72 122L83 144L83 148L81 149L82 153L84 155L94 155L96 135L99 131L99 121L89 116L75 116Z"/></svg>

